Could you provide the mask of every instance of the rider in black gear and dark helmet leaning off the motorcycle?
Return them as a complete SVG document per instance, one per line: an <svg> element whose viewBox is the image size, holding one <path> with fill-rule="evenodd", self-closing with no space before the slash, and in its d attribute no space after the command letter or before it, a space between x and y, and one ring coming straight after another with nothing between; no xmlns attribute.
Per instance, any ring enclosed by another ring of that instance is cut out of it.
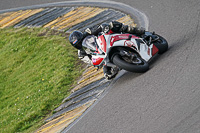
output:
<svg viewBox="0 0 200 133"><path fill-rule="evenodd" d="M95 35L98 36L101 32L105 33L130 33L135 34L137 36L141 36L145 33L144 29L139 29L136 27L132 27L129 25L123 25L120 22L112 21L109 24L102 24L100 26L96 26L93 28L87 28L84 33L80 31L73 31L69 36L69 41L75 48L78 49L78 56L79 58L84 58L85 56L88 56L91 60L91 55L87 53L87 50L84 50L82 46L83 40L88 37L89 35ZM95 45L95 44L93 44ZM90 46L93 47L92 45ZM111 67L104 66L103 67L104 76L107 79L112 79L116 76L118 73L118 69L113 69Z"/></svg>

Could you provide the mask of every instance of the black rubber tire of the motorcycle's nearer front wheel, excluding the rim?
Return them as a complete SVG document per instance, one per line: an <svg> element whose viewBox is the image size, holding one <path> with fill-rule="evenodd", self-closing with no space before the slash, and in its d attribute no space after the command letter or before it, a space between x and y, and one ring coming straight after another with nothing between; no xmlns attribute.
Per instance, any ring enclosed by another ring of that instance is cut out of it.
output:
<svg viewBox="0 0 200 133"><path fill-rule="evenodd" d="M140 64L133 64L125 61L121 55L116 54L113 57L113 63L118 66L119 68L122 68L124 70L130 71L130 72L137 72L137 73L143 73L149 70L149 64L143 60L140 57L137 57L141 63Z"/></svg>

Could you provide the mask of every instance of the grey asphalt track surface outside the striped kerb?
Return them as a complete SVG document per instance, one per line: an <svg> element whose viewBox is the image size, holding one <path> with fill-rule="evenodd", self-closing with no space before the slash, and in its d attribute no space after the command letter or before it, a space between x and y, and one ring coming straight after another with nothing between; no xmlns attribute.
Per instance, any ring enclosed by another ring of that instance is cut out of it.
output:
<svg viewBox="0 0 200 133"><path fill-rule="evenodd" d="M3 0L0 9L48 2L58 1ZM150 31L164 36L170 48L148 72L125 73L69 132L199 133L200 1L123 3L144 12Z"/></svg>

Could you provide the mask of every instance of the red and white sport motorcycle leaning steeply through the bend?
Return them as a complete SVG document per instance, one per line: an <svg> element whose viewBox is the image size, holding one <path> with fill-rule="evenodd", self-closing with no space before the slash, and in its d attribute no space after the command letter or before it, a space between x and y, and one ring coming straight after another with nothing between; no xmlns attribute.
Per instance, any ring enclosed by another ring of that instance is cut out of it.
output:
<svg viewBox="0 0 200 133"><path fill-rule="evenodd" d="M168 49L165 38L146 31L141 37L133 34L102 32L98 37L86 37L82 45L89 49L92 64L106 66L114 72L116 68L143 73L149 69L149 62L157 54Z"/></svg>

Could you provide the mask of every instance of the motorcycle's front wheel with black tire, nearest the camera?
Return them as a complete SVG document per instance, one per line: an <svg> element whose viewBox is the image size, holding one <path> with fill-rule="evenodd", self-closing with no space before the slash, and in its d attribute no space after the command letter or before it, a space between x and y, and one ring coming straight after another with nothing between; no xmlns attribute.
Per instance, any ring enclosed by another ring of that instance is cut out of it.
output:
<svg viewBox="0 0 200 133"><path fill-rule="evenodd" d="M130 72L143 73L149 69L149 64L139 56L129 58L116 54L113 57L113 63L119 68Z"/></svg>

